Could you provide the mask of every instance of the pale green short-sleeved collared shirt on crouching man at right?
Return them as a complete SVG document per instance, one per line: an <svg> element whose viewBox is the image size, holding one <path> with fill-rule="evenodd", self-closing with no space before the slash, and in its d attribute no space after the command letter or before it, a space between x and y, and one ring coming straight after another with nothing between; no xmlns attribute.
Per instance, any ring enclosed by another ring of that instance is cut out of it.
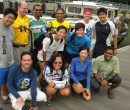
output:
<svg viewBox="0 0 130 110"><path fill-rule="evenodd" d="M104 55L101 55L93 62L92 71L102 78L112 78L112 73L119 73L118 58L113 56L110 61L106 61Z"/></svg>

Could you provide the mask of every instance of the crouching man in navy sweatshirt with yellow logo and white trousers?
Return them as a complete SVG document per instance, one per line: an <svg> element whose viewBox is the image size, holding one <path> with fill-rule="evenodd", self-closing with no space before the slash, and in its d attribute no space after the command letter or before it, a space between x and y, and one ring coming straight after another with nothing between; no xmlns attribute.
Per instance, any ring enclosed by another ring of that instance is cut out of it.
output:
<svg viewBox="0 0 130 110"><path fill-rule="evenodd" d="M32 100L30 110L38 110L37 101L46 101L46 95L39 89L36 90L37 72L31 67L32 55L30 52L21 54L21 65L14 66L8 75L7 88L12 107L22 110L25 100Z"/></svg>

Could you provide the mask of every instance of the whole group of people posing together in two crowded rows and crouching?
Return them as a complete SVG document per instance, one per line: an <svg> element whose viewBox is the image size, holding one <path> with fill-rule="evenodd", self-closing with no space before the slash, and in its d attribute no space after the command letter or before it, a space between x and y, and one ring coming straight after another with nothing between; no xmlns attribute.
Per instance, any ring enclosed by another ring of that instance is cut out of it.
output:
<svg viewBox="0 0 130 110"><path fill-rule="evenodd" d="M84 10L83 20L77 21L72 32L62 8L56 10L56 19L49 23L41 17L39 4L33 7L33 17L29 18L27 12L28 4L22 1L18 12L5 9L0 21L0 110L1 102L8 100L8 92L15 110L22 110L26 100L32 100L30 110L38 110L36 101L51 105L55 95L71 93L82 93L89 101L92 90L98 93L107 85L107 95L113 99L112 90L121 84L121 78L115 56L117 30L107 19L107 9L98 9L99 21L91 20L90 9ZM46 33L42 33L44 26L48 28ZM35 41L41 36L44 38L37 45L42 47L38 49Z"/></svg>

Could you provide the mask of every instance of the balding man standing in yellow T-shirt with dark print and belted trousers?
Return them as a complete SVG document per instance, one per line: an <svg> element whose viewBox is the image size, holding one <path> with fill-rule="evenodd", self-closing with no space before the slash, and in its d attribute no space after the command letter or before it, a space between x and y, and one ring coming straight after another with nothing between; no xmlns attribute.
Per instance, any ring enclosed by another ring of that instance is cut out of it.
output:
<svg viewBox="0 0 130 110"><path fill-rule="evenodd" d="M23 51L29 51L29 18L26 16L28 13L28 4L22 1L18 4L18 17L12 25L14 29L14 60L15 63L20 63L20 55Z"/></svg>

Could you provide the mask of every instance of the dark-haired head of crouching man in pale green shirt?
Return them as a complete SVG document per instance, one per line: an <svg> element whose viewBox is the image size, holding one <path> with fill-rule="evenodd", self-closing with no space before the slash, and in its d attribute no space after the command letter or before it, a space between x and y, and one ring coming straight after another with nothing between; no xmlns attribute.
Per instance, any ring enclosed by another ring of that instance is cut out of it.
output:
<svg viewBox="0 0 130 110"><path fill-rule="evenodd" d="M106 61L110 61L114 55L114 48L111 46L108 46L104 51L104 59Z"/></svg>

